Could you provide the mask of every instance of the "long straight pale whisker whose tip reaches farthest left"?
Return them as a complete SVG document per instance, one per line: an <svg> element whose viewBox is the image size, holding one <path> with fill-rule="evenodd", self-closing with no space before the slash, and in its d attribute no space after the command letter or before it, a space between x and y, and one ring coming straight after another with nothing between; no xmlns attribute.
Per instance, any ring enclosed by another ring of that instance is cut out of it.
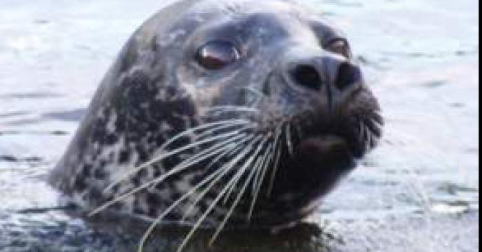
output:
<svg viewBox="0 0 482 252"><path fill-rule="evenodd" d="M242 139L245 137L245 135L238 135L235 137L232 137L231 139L228 139L227 141L223 141L220 144L217 144L216 146L213 146L209 148L208 150L205 150L203 152L200 152L199 154L196 154L194 157L191 157L190 159L187 159L186 161L180 163L177 165L175 168L169 170L166 174L163 174L162 176L158 177L157 179L154 179L152 181L149 181L145 183L144 185L140 185L139 187L135 188L134 190L131 190L122 196L118 196L114 198L114 200L109 201L108 203L105 203L101 207L98 207L94 211L90 213L90 216L94 216L98 214L99 212L107 209L108 207L114 205L115 203L118 203L119 201L123 201L125 198L128 198L129 196L136 194L137 192L140 192L142 190L145 190L147 187L150 187L151 185L154 185L156 183L161 183L168 179L170 176L173 176L174 174L178 174L179 172L182 172L183 170L186 170L187 168L191 167L191 165L196 164L202 160L208 159L209 157L213 157L214 155L222 152L223 150L226 150L227 148L220 148L222 146L225 146L226 144L229 144L233 141L237 141L239 139Z"/></svg>

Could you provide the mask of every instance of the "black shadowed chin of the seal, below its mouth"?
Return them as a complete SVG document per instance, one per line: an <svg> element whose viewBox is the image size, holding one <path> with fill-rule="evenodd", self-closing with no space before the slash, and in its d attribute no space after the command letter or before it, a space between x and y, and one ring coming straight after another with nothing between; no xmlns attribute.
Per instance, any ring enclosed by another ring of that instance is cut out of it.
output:
<svg viewBox="0 0 482 252"><path fill-rule="evenodd" d="M356 158L342 137L310 137L280 163L270 200L262 201L254 225L284 227L300 222L355 169Z"/></svg>

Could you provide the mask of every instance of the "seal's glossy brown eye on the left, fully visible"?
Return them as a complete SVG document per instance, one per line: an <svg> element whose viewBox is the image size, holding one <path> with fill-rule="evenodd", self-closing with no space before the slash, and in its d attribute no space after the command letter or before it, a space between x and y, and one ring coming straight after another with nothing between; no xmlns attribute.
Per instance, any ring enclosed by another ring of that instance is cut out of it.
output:
<svg viewBox="0 0 482 252"><path fill-rule="evenodd" d="M213 41L198 49L196 60L202 67L218 70L240 59L240 52L229 41Z"/></svg>

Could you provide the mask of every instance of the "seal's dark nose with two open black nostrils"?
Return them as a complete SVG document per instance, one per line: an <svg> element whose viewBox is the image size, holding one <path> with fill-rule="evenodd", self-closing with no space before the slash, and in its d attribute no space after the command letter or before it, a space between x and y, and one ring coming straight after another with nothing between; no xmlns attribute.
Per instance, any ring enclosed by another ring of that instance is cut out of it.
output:
<svg viewBox="0 0 482 252"><path fill-rule="evenodd" d="M331 55L297 62L290 72L293 84L313 91L320 91L325 84L342 91L362 79L359 67Z"/></svg>

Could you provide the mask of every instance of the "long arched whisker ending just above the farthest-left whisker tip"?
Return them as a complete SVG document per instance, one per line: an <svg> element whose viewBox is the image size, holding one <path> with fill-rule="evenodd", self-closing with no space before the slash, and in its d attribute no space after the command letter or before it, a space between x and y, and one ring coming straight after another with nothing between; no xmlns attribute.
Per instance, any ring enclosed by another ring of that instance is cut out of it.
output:
<svg viewBox="0 0 482 252"><path fill-rule="evenodd" d="M249 122L249 121L247 121L247 122ZM240 125L243 125L243 124L240 124ZM242 129L240 129L240 130L235 130L235 131L230 132L230 133L225 133L225 134L219 135L219 136L217 136L217 137L211 137L211 138L209 138L209 139L202 139L202 140L200 140L200 141L195 141L195 142L193 142L192 144L189 144L189 145L187 145L187 146L182 146L181 148L177 148L177 149L175 149L175 150L170 150L169 152L160 155L160 157L157 157L157 158L155 158L155 159L152 159L151 161L147 161L146 163L143 163L142 165L138 166L137 168L134 168L134 169L132 169L131 171L127 172L127 174L125 174L124 176L122 176L120 179L116 179L116 181L110 183L107 187L105 187L104 192L107 192L107 191L109 191L109 190L112 190L112 188L113 188L114 186L118 185L119 183L121 183L121 182L124 181L125 179L129 178L129 176L132 176L132 175L140 172L141 170L149 167L150 165L154 165L154 164L156 164L156 163L158 163L158 162L160 162L160 161L163 161L164 159L167 159L168 157L171 157L171 156L173 156L173 155L175 155L175 154L179 154L180 152L183 152L183 151L185 151L185 150L189 150L189 149L191 149L191 148L200 146L200 145L202 145L202 144L209 144L210 142L216 141L216 140L218 140L218 139L223 139L223 138L226 138L226 137L231 137L231 136L233 136L233 135L236 135L236 134L242 132L242 130L245 130L245 129L251 128L251 127L253 127L253 125L251 125L251 126L246 126L246 127L242 128ZM219 129L224 129L224 128L226 128L225 125L224 125L224 126L220 126L219 128L217 128L217 130L219 130ZM183 135L183 136L184 136L184 135ZM176 138L176 137L174 137L174 138ZM180 137L179 137L179 138L180 138ZM179 139L179 138L178 138L178 139ZM174 140L174 141L175 141L175 140ZM172 139L171 139L171 143L173 143L174 141L172 141ZM169 146L169 144L171 144L171 143L164 144L163 147L160 147L160 150L165 150L165 148L166 148L167 146Z"/></svg>

